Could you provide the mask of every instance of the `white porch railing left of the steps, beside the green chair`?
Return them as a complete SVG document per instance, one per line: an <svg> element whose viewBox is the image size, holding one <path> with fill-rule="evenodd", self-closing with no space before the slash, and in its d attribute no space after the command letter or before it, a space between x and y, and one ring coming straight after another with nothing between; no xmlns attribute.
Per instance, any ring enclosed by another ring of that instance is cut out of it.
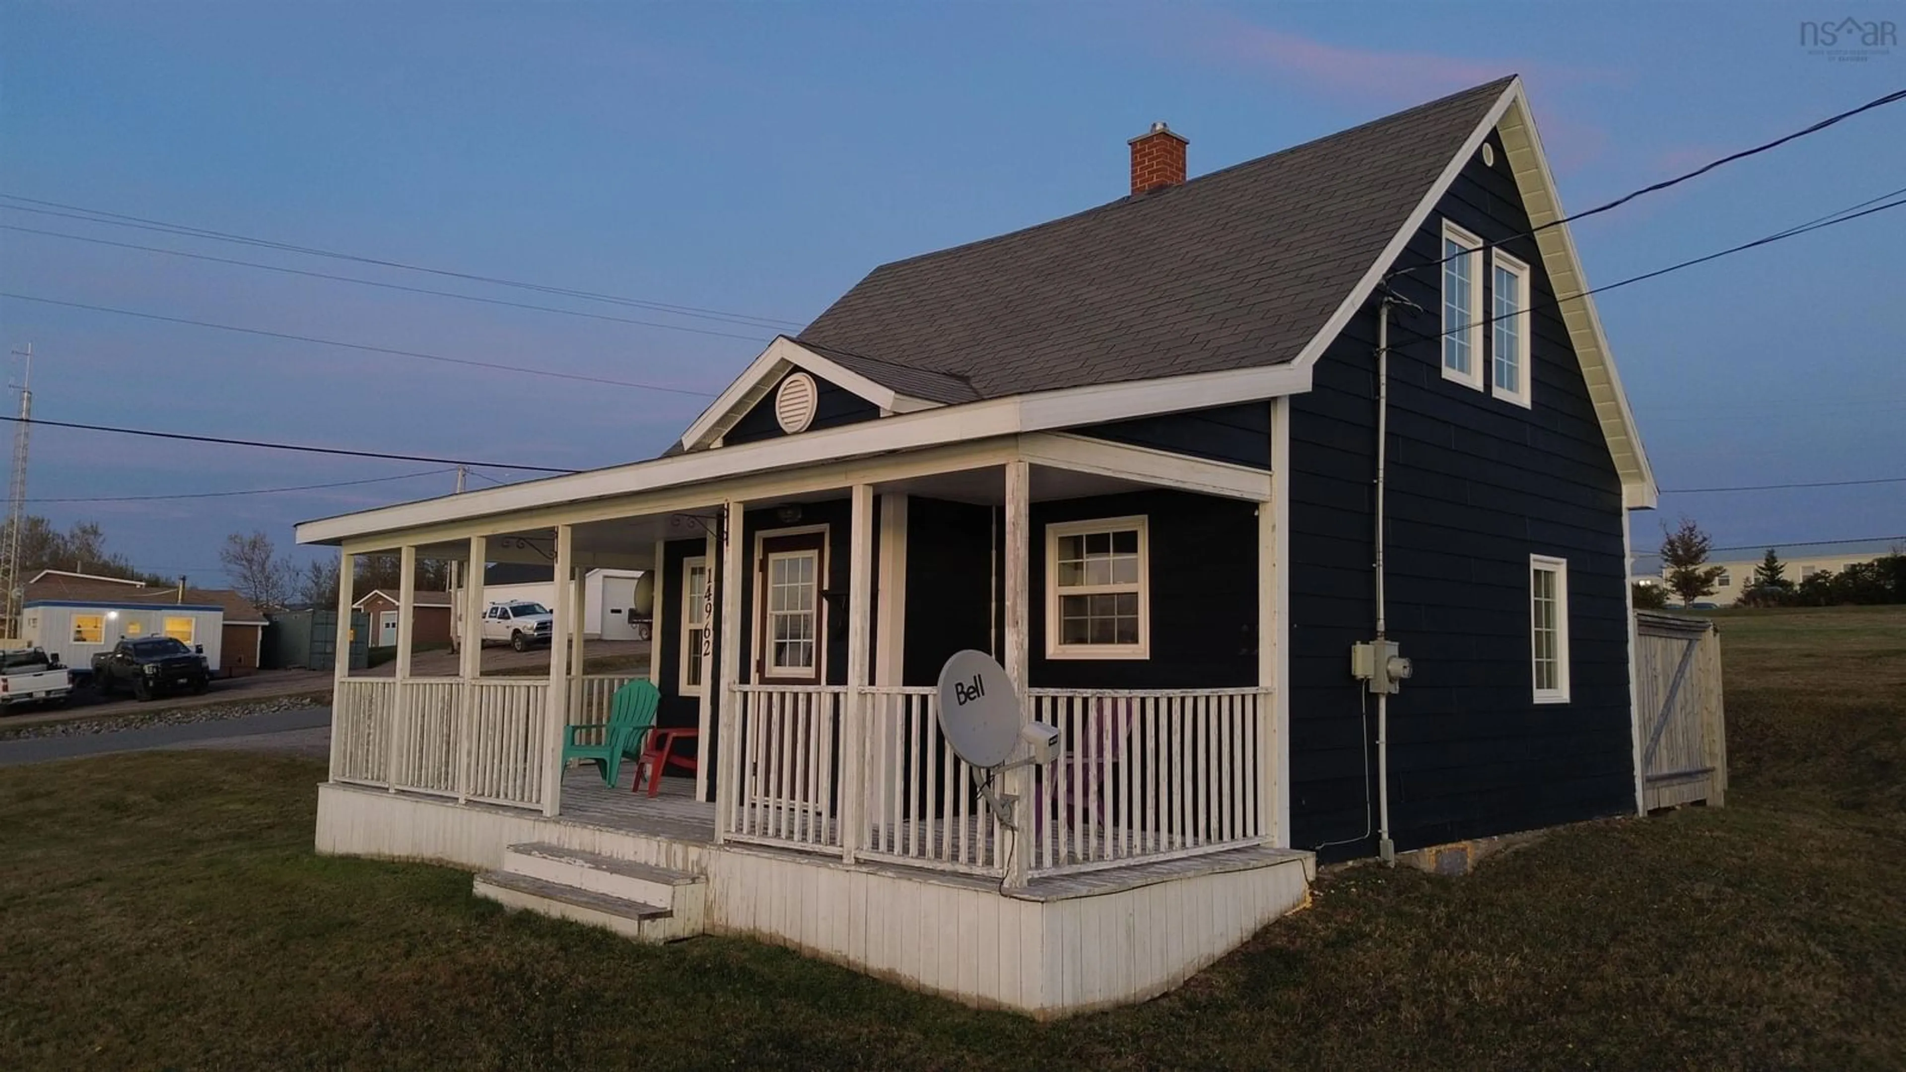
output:
<svg viewBox="0 0 1906 1072"><path fill-rule="evenodd" d="M332 780L539 809L547 692L536 677L339 681Z"/></svg>

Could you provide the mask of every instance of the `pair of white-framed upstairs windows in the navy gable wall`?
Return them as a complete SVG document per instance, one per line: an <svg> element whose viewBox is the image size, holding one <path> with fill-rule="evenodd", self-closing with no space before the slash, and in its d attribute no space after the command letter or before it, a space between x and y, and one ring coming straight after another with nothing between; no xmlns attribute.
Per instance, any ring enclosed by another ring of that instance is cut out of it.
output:
<svg viewBox="0 0 1906 1072"><path fill-rule="evenodd" d="M1494 397L1529 406L1529 265L1445 219L1443 378L1481 391L1485 372Z"/></svg>

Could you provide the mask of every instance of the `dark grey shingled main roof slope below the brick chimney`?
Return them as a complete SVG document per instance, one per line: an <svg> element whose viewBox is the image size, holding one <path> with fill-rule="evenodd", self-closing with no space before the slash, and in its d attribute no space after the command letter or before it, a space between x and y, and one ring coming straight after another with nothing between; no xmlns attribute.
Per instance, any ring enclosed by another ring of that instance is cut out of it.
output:
<svg viewBox="0 0 1906 1072"><path fill-rule="evenodd" d="M799 341L934 402L1285 364L1508 84L881 265Z"/></svg>

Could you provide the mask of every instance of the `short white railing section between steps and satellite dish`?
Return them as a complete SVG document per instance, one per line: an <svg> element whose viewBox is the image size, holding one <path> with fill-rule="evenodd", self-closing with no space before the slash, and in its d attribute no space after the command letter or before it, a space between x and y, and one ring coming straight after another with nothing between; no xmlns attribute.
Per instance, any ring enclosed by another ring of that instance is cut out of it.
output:
<svg viewBox="0 0 1906 1072"><path fill-rule="evenodd" d="M736 685L722 711L720 832L732 841L839 849L835 780L846 689Z"/></svg>

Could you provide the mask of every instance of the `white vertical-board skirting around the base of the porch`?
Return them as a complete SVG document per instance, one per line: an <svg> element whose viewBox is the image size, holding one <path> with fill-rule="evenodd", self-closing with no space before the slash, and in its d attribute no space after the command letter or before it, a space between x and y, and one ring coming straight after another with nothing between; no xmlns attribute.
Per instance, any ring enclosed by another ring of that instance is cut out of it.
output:
<svg viewBox="0 0 1906 1072"><path fill-rule="evenodd" d="M913 990L1039 1019L1165 994L1304 906L1315 876L1309 853L1239 849L1054 877L1001 897L985 877L715 845L667 811L543 818L318 786L318 853L482 872L499 868L511 845L532 841L703 876L709 933L760 938Z"/></svg>

